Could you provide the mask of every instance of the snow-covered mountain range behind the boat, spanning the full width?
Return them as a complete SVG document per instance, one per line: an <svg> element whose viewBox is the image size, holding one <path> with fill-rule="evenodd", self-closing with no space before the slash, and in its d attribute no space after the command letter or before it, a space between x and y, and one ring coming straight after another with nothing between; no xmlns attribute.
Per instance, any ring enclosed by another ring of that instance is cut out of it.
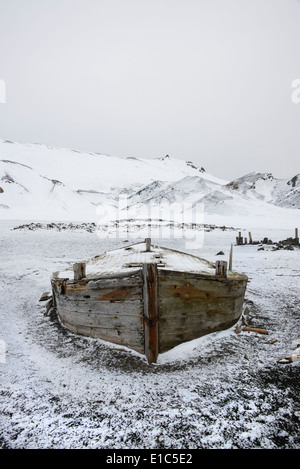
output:
<svg viewBox="0 0 300 469"><path fill-rule="evenodd" d="M136 213L147 204L204 204L210 222L267 217L297 226L299 191L300 175L251 173L226 181L168 155L120 158L0 140L1 219L97 221L99 208L115 208L123 197Z"/></svg>

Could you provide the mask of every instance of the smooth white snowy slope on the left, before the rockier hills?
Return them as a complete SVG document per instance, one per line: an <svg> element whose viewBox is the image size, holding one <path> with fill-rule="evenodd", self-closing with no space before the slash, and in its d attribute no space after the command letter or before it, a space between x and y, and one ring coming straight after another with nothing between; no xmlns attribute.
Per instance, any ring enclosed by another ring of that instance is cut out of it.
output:
<svg viewBox="0 0 300 469"><path fill-rule="evenodd" d="M110 204L124 189L130 194L132 186L137 191L195 174L225 183L173 158L119 158L0 140L0 217L91 221L97 204Z"/></svg>

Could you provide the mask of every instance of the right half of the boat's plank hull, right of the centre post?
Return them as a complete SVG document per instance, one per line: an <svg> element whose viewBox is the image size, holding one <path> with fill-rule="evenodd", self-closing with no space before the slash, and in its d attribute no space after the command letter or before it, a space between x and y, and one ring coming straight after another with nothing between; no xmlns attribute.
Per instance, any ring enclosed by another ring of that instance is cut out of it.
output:
<svg viewBox="0 0 300 469"><path fill-rule="evenodd" d="M246 279L159 273L159 351L233 326L243 311Z"/></svg>

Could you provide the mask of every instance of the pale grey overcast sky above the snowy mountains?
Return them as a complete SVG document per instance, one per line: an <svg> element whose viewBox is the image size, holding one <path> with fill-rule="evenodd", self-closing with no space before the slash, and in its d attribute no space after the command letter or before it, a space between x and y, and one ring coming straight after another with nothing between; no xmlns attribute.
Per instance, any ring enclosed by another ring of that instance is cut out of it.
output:
<svg viewBox="0 0 300 469"><path fill-rule="evenodd" d="M297 0L0 0L0 139L300 173Z"/></svg>

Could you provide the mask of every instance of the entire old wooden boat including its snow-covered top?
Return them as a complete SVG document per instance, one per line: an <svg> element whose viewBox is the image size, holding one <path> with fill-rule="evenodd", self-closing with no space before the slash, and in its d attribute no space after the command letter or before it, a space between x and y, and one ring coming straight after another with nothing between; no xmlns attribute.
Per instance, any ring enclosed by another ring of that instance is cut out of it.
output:
<svg viewBox="0 0 300 469"><path fill-rule="evenodd" d="M159 353L238 321L247 276L226 264L147 239L55 272L53 304L71 331L124 345L153 363Z"/></svg>

